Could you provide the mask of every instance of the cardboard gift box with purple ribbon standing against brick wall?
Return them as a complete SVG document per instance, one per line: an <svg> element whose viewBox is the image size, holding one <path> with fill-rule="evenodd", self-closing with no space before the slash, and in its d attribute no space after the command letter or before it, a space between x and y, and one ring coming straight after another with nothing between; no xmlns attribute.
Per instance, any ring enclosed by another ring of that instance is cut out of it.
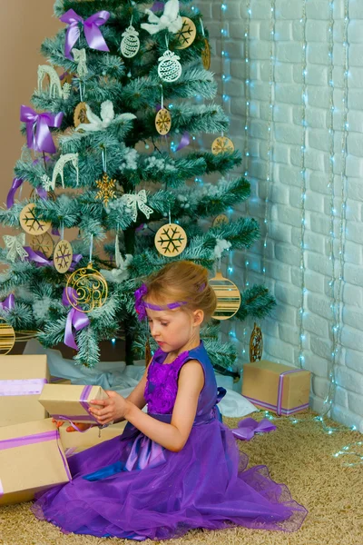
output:
<svg viewBox="0 0 363 545"><path fill-rule="evenodd" d="M282 363L246 363L242 395L261 409L289 415L309 409L310 372Z"/></svg>

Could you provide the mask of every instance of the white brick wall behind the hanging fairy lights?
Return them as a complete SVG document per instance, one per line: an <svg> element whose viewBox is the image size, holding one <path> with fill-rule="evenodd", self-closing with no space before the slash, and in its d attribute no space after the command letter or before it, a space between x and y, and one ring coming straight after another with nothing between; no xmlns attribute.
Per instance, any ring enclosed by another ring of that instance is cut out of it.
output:
<svg viewBox="0 0 363 545"><path fill-rule="evenodd" d="M332 0L331 0L332 1ZM331 300L329 281L329 2L307 0L307 110L306 110L306 232L304 367L313 373L311 406L319 411L328 393L331 342ZM213 57L211 70L220 84L221 66L227 81L223 92L228 95L224 108L231 118L230 135L244 150L246 122L245 99L245 28L246 0L199 0L197 7L211 33ZM271 131L272 181L267 187L267 143L270 105L270 0L250 0L250 165L251 198L247 208L260 221L262 239L250 253L234 253L231 280L243 286L263 282L261 274L264 240L265 196L269 189L268 246L266 284L278 306L273 316L262 323L264 357L299 367L299 273L301 194L301 92L302 92L302 0L275 2L275 84L274 122ZM363 1L350 0L348 25L348 201L345 246L342 350L336 371L337 392L332 417L363 432ZM221 28L226 35L221 43ZM343 126L342 97L344 83L344 0L334 0L334 113L336 208L339 214L341 136ZM221 50L228 58L222 64ZM231 77L229 77L231 76ZM244 166L240 172L244 171ZM338 229L338 219L336 229ZM337 232L338 234L338 232ZM335 246L338 257L338 241ZM249 261L245 272L245 261ZM230 263L231 265L231 263ZM247 360L253 323L238 323L235 331L241 362ZM233 335L231 336L233 338ZM245 351L245 352L243 352Z"/></svg>

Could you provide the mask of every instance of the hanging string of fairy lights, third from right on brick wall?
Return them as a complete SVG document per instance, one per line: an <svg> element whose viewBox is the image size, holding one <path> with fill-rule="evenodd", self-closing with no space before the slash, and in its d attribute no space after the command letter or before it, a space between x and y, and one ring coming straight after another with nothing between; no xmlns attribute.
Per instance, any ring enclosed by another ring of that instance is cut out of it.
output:
<svg viewBox="0 0 363 545"><path fill-rule="evenodd" d="M301 177L301 193L300 193L300 282L301 282L301 295L299 306L299 367L304 366L304 313L305 313L305 199L306 199L306 140L307 140L307 74L308 74L308 62L307 62L307 39L306 39L306 27L307 27L307 13L306 13L307 0L302 0L302 15L300 18L301 25L301 155L300 155L300 177Z"/></svg>

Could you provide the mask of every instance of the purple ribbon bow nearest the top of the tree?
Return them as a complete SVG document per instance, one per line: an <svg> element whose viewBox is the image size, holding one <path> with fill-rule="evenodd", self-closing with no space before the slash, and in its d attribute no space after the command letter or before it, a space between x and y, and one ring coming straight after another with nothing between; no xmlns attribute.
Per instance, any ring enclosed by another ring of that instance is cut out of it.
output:
<svg viewBox="0 0 363 545"><path fill-rule="evenodd" d="M97 49L99 51L110 51L99 28L108 21L109 17L110 13L102 10L91 15L84 21L81 15L76 14L73 9L69 9L67 12L65 12L65 14L59 19L62 21L62 23L66 23L68 25L64 45L64 54L67 59L74 61L71 51L81 35L79 24L83 25L85 39L87 40L87 44L92 49Z"/></svg>

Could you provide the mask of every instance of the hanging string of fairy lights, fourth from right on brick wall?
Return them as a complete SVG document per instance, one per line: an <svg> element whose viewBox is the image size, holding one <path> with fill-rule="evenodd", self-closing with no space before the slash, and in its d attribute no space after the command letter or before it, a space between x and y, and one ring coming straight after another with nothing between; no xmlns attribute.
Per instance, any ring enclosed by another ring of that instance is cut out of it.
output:
<svg viewBox="0 0 363 545"><path fill-rule="evenodd" d="M269 237L269 203L270 203L270 185L273 183L273 113L275 102L275 3L271 0L270 5L270 76L269 76L269 117L267 126L267 166L266 166L266 193L265 193L265 236L262 248L262 276L263 283L266 283L266 257L267 241Z"/></svg>

